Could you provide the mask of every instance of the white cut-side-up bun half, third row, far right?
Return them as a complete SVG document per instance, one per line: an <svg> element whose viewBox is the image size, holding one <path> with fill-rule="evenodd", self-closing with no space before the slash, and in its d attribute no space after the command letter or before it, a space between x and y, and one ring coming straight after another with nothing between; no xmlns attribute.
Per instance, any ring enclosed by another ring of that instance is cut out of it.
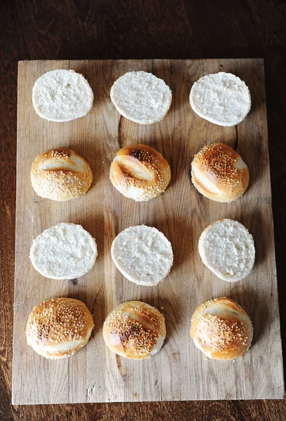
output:
<svg viewBox="0 0 286 421"><path fill-rule="evenodd" d="M198 241L198 251L205 266L224 281L246 278L254 265L252 235L240 222L230 219L205 228Z"/></svg>

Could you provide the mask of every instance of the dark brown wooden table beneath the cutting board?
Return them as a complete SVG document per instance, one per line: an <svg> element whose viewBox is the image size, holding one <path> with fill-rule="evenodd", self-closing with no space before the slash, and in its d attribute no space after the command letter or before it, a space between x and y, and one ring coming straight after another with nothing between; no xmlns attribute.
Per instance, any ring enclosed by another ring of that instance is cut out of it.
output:
<svg viewBox="0 0 286 421"><path fill-rule="evenodd" d="M275 248L285 355L285 18L286 2L282 0L0 2L1 421L286 420L285 400L11 406L18 60L265 59Z"/></svg>

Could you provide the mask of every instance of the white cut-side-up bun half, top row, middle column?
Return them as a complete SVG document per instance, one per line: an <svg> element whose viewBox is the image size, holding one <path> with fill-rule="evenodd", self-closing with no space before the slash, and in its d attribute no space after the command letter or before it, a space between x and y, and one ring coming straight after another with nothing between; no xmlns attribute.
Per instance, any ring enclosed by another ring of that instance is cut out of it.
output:
<svg viewBox="0 0 286 421"><path fill-rule="evenodd" d="M168 113L172 91L154 74L128 72L114 82L110 97L117 111L126 119L152 124Z"/></svg>

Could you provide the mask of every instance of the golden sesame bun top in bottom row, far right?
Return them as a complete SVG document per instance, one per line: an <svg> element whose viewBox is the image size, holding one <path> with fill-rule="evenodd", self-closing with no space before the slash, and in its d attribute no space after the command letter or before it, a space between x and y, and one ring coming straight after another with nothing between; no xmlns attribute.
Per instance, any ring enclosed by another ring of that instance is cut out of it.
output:
<svg viewBox="0 0 286 421"><path fill-rule="evenodd" d="M235 301L222 297L199 305L191 318L191 338L211 359L231 360L250 348L250 317Z"/></svg>

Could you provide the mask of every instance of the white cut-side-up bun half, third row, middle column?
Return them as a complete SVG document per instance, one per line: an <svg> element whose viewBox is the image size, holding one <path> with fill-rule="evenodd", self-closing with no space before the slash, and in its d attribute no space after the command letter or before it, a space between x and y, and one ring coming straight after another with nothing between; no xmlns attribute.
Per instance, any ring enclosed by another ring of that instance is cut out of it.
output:
<svg viewBox="0 0 286 421"><path fill-rule="evenodd" d="M172 244L154 227L124 229L112 242L111 257L118 270L137 285L154 286L172 267Z"/></svg>

